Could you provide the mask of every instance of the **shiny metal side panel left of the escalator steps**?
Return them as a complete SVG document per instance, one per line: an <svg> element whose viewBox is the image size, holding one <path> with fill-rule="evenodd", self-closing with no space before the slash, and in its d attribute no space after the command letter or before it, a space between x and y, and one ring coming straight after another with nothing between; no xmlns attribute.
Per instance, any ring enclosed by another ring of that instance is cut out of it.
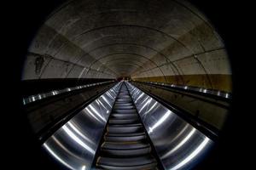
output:
<svg viewBox="0 0 256 170"><path fill-rule="evenodd" d="M43 147L67 169L90 169L120 83L58 129Z"/></svg>

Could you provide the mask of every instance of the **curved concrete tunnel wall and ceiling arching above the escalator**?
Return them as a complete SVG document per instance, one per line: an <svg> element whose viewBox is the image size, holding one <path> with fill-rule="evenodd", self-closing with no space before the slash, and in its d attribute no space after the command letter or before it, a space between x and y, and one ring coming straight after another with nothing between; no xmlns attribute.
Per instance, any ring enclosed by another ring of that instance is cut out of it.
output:
<svg viewBox="0 0 256 170"><path fill-rule="evenodd" d="M224 43L185 1L67 1L28 51L22 80L131 77L231 91Z"/></svg>

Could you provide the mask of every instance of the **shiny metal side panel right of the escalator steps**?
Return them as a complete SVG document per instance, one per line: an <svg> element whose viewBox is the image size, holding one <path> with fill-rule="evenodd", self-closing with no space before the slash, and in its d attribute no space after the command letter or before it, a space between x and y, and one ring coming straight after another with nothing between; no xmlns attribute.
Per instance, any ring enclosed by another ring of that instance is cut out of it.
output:
<svg viewBox="0 0 256 170"><path fill-rule="evenodd" d="M125 83L165 169L194 167L213 141L131 83Z"/></svg>

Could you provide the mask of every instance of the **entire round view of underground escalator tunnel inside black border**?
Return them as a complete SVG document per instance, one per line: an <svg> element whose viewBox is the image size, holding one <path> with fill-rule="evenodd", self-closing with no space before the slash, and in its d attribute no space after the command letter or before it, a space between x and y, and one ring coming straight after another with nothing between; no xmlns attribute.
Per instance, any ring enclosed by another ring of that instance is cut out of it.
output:
<svg viewBox="0 0 256 170"><path fill-rule="evenodd" d="M61 3L33 37L21 82L57 169L197 169L232 101L224 39L183 0Z"/></svg>

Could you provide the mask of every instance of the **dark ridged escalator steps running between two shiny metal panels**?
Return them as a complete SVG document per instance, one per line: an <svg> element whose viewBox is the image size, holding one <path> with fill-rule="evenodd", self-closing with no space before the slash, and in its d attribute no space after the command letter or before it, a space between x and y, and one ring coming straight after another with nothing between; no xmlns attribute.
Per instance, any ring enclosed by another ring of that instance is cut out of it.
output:
<svg viewBox="0 0 256 170"><path fill-rule="evenodd" d="M160 169L153 147L123 82L96 157L96 169Z"/></svg>

